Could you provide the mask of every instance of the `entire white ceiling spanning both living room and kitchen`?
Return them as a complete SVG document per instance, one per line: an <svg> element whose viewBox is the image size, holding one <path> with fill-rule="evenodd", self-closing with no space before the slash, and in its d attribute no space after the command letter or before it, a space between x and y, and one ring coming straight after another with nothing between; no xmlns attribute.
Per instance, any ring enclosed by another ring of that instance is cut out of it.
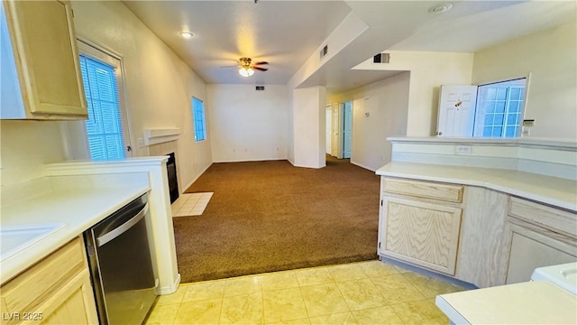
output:
<svg viewBox="0 0 577 325"><path fill-rule="evenodd" d="M206 83L287 84L353 13L369 28L300 86L344 91L397 71L350 70L372 55L398 51L478 51L520 35L575 20L575 1L124 1ZM194 37L185 40L179 32ZM243 78L238 59L266 60L266 72Z"/></svg>

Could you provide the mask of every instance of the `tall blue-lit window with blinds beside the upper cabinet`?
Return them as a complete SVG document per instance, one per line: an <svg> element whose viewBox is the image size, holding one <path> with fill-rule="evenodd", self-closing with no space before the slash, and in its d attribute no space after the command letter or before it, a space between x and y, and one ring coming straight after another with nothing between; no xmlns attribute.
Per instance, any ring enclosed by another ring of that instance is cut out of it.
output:
<svg viewBox="0 0 577 325"><path fill-rule="evenodd" d="M114 67L80 55L88 104L87 135L93 160L125 157L120 103Z"/></svg>

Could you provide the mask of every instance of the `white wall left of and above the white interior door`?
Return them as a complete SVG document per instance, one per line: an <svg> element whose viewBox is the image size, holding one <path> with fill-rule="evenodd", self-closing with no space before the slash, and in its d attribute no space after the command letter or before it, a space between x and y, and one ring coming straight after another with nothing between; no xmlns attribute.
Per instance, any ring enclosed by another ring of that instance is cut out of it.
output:
<svg viewBox="0 0 577 325"><path fill-rule="evenodd" d="M355 69L410 71L407 135L435 135L441 85L470 85L472 53L387 51L390 63L374 65L372 58Z"/></svg>

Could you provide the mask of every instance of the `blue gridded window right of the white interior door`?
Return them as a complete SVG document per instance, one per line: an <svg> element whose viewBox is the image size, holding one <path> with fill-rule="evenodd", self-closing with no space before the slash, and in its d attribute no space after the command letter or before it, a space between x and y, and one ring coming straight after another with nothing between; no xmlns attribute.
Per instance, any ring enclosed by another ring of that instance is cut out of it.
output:
<svg viewBox="0 0 577 325"><path fill-rule="evenodd" d="M474 136L518 137L526 79L479 86Z"/></svg>

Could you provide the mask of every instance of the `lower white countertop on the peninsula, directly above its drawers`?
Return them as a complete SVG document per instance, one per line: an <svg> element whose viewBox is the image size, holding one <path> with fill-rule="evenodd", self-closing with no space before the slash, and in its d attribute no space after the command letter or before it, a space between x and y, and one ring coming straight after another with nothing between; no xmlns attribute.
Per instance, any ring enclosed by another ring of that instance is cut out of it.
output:
<svg viewBox="0 0 577 325"><path fill-rule="evenodd" d="M557 177L501 169L400 162L388 163L376 173L381 176L481 186L577 211L577 181Z"/></svg>

